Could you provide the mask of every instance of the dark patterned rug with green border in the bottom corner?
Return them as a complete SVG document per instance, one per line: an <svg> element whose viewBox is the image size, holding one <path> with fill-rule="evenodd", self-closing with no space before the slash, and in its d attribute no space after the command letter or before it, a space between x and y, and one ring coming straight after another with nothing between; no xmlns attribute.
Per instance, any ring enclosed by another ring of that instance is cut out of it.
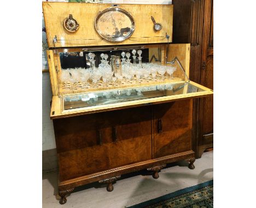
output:
<svg viewBox="0 0 256 208"><path fill-rule="evenodd" d="M213 180L181 189L127 208L208 208L213 207Z"/></svg>

